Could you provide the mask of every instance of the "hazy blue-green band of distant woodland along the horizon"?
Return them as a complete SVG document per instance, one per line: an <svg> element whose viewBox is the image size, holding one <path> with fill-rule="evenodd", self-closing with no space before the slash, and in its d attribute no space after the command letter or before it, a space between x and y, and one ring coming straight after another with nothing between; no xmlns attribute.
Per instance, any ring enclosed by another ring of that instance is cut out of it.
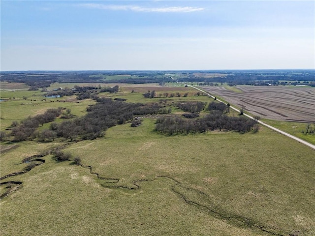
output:
<svg viewBox="0 0 315 236"><path fill-rule="evenodd" d="M186 72L186 73L185 73ZM198 72L201 76L196 77L193 73ZM104 80L104 76L130 74L130 78L117 80ZM178 71L168 73L179 73ZM202 73L221 73L227 76L221 77L202 77ZM263 85L263 81L272 82L270 84L280 84L278 81L307 81L310 86L315 86L314 70L248 70L248 71L182 71L183 78L178 78L178 82L195 82L218 85L218 83L229 83L231 85ZM137 76L138 78L132 78ZM144 84L158 83L163 85L165 82L173 82L170 76L165 76L162 71L1 71L1 80L8 82L25 83L31 90L47 88L52 83L129 83ZM294 82L295 83L295 82Z"/></svg>

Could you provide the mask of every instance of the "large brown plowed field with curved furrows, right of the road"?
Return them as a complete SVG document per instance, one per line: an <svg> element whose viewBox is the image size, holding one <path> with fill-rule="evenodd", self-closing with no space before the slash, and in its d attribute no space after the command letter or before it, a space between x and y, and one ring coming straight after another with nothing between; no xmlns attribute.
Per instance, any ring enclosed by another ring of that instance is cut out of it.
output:
<svg viewBox="0 0 315 236"><path fill-rule="evenodd" d="M201 87L261 118L315 122L315 89L310 87L237 86Z"/></svg>

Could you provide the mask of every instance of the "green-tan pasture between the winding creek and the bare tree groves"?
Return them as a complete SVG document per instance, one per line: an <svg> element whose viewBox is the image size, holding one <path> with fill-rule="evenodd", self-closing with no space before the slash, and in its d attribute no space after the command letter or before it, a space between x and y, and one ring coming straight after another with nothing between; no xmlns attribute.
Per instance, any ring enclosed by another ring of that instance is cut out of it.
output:
<svg viewBox="0 0 315 236"><path fill-rule="evenodd" d="M83 158L83 162L103 177L118 178L120 186L135 187L137 179L173 177L182 186L212 196L215 206L230 217L249 217L276 232L279 227L283 232L303 230L293 219L287 220L288 212L299 212L306 218L315 215L307 210L315 202L306 187L315 174L308 168L313 150L265 128L258 134L209 132L166 137L152 133L152 120L145 119L144 123L136 129L127 124L110 128L105 139L95 143L93 159ZM76 146L72 152L88 155L87 150ZM98 164L106 159L110 160L107 165ZM184 194L189 196L190 192ZM304 232L314 226L305 227Z"/></svg>

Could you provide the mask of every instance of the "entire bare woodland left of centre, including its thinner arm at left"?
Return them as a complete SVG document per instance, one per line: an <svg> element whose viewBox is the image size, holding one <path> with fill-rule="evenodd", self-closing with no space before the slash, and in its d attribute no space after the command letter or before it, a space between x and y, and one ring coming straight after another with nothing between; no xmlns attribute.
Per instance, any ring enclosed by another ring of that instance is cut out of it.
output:
<svg viewBox="0 0 315 236"><path fill-rule="evenodd" d="M97 98L96 105L87 108L87 115L61 123L52 122L49 129L36 131L39 125L54 121L61 115L62 110L62 108L49 109L44 114L23 120L20 125L14 122L15 127L12 129L14 141L34 138L38 138L39 141L54 141L56 137L64 137L71 141L77 138L93 140L101 137L107 128L132 120L134 115L157 115L171 112L170 108L158 104L125 103L113 101L110 98ZM70 112L70 110L66 111L67 116ZM1 139L4 139L4 133L1 134Z"/></svg>

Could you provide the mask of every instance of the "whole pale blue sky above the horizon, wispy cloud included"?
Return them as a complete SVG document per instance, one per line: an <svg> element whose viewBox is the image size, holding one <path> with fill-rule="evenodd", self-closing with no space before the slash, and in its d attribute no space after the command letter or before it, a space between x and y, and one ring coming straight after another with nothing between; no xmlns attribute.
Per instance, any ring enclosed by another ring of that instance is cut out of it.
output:
<svg viewBox="0 0 315 236"><path fill-rule="evenodd" d="M1 70L315 68L315 2L1 0Z"/></svg>

